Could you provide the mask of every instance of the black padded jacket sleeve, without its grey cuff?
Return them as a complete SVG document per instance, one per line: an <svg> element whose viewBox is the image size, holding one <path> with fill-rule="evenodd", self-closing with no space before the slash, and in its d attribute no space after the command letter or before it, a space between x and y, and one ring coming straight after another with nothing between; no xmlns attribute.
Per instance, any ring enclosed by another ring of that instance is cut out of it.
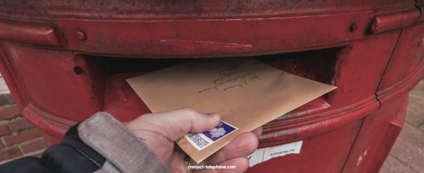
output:
<svg viewBox="0 0 424 173"><path fill-rule="evenodd" d="M94 172L106 159L78 136L72 126L60 144L47 148L42 158L26 156L0 165L0 172Z"/></svg>

